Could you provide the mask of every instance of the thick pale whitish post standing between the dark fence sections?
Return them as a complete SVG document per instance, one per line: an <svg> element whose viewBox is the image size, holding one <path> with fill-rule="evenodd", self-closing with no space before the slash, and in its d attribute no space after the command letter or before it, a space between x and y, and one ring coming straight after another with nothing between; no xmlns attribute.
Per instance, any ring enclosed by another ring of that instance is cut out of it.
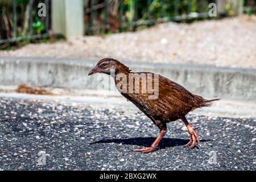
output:
<svg viewBox="0 0 256 182"><path fill-rule="evenodd" d="M52 31L67 39L84 34L82 0L52 0Z"/></svg>

